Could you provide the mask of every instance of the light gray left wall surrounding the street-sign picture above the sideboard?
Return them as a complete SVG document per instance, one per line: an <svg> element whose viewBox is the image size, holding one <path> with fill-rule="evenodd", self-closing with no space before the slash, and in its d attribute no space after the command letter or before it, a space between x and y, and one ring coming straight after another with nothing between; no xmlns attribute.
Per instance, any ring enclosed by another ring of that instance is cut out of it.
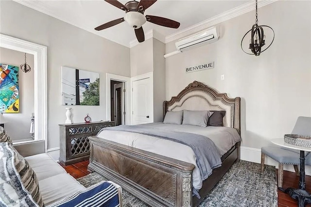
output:
<svg viewBox="0 0 311 207"><path fill-rule="evenodd" d="M0 25L1 34L48 47L48 149L59 147L58 124L66 120L66 106L61 105L62 66L100 73L100 106L72 106L72 121L84 122L86 113L92 121L105 119L105 73L130 77L129 48L14 1L0 1ZM58 151L51 154L58 159Z"/></svg>

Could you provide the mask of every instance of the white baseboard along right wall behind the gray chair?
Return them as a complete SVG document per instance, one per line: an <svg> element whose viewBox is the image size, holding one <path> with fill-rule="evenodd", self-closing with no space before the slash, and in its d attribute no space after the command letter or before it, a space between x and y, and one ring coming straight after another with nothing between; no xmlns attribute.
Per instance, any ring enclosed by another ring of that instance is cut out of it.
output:
<svg viewBox="0 0 311 207"><path fill-rule="evenodd" d="M249 162L260 163L261 162L261 150L257 148L244 147L241 146L241 159ZM265 158L266 165L276 166L278 168L278 163L266 156ZM284 171L295 172L293 165L284 165ZM311 166L305 167L306 175L311 175Z"/></svg>

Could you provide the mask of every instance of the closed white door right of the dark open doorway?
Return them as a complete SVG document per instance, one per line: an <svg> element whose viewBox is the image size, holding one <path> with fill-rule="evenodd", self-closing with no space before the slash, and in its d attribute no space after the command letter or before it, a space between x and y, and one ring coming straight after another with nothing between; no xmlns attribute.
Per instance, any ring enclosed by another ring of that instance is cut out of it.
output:
<svg viewBox="0 0 311 207"><path fill-rule="evenodd" d="M150 78L133 81L133 124L152 123L153 97Z"/></svg>

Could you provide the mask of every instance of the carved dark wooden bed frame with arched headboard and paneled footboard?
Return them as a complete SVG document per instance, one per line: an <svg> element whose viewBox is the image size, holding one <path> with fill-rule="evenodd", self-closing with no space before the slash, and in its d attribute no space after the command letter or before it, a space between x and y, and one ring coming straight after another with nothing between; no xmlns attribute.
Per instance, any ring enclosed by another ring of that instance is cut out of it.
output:
<svg viewBox="0 0 311 207"><path fill-rule="evenodd" d="M168 110L225 110L224 125L237 129L240 134L240 100L240 97L230 99L226 93L194 81L163 103L163 117ZM197 206L231 165L240 160L239 142L222 156L222 166L203 182L198 199L192 197L193 164L103 138L89 137L89 141L88 171L104 175L153 207Z"/></svg>

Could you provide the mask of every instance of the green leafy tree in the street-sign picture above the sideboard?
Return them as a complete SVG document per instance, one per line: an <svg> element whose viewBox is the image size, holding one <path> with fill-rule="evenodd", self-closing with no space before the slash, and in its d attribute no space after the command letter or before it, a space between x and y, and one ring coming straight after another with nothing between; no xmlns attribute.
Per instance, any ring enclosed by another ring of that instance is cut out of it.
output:
<svg viewBox="0 0 311 207"><path fill-rule="evenodd" d="M99 105L99 78L90 83L86 91L83 92L83 101L80 105Z"/></svg>

